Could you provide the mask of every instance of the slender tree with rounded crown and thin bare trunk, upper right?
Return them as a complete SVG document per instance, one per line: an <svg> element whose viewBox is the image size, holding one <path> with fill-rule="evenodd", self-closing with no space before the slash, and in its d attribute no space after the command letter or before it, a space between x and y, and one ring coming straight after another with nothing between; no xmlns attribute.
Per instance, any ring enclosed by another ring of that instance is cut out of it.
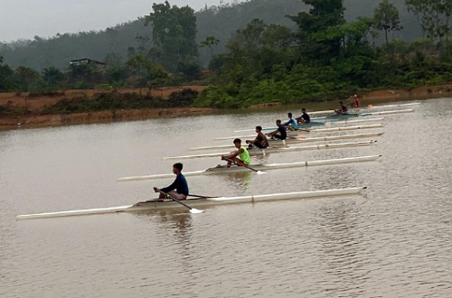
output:
<svg viewBox="0 0 452 298"><path fill-rule="evenodd" d="M391 5L388 0L383 0L373 12L373 20L375 22L375 29L383 30L388 47L388 32L392 30L400 31L399 11L394 5Z"/></svg>

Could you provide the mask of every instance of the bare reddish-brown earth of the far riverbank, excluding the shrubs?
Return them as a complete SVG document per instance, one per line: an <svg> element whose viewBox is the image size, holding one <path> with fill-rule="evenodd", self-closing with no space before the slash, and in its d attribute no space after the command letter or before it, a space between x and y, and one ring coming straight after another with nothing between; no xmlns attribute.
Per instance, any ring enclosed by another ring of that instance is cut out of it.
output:
<svg viewBox="0 0 452 298"><path fill-rule="evenodd" d="M152 94L168 98L175 91L183 88L192 88L196 91L202 91L204 86L187 86L180 88L159 88L154 90L142 89L143 94ZM136 92L136 89L122 89L118 92ZM80 124L105 123L112 121L132 121L157 117L179 117L193 115L207 115L214 109L209 107L173 107L173 108L146 108L146 109L124 109L108 110L100 112L76 113L64 115L40 115L43 107L55 104L62 98L92 97L99 94L99 90L66 90L60 96L28 98L24 93L1 93L0 106L13 105L18 108L27 108L32 112L28 116L0 117L0 128L13 129L16 127L40 127L40 126L68 126ZM363 106L379 102L390 102L400 100L415 100L425 98L446 97L452 98L452 84L420 87L412 90L386 89L366 92L359 95L362 98ZM352 97L351 97L352 98ZM351 99L350 98L350 99ZM345 99L347 100L347 99ZM256 105L251 108L280 106L280 103L269 103Z"/></svg>

